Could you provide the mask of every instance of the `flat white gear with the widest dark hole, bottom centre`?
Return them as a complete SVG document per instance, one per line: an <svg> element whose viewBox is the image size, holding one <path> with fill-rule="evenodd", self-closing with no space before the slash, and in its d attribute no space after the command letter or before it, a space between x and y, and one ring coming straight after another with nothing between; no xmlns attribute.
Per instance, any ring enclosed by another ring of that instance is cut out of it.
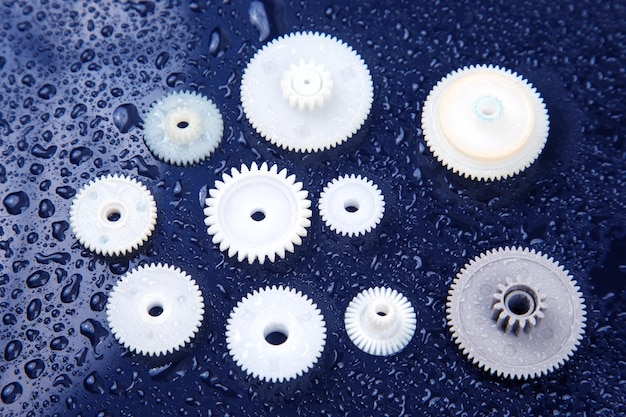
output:
<svg viewBox="0 0 626 417"><path fill-rule="evenodd" d="M248 294L230 313L228 351L248 375L285 382L308 372L326 344L326 323L306 295L272 286Z"/></svg>

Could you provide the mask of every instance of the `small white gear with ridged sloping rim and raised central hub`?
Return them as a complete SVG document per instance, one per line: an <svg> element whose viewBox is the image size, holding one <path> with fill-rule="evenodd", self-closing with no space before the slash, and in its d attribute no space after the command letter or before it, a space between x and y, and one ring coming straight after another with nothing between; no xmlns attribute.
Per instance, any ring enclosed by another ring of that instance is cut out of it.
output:
<svg viewBox="0 0 626 417"><path fill-rule="evenodd" d="M352 343L376 356L404 349L415 333L417 319L409 300L390 288L369 288L350 301L344 317Z"/></svg>

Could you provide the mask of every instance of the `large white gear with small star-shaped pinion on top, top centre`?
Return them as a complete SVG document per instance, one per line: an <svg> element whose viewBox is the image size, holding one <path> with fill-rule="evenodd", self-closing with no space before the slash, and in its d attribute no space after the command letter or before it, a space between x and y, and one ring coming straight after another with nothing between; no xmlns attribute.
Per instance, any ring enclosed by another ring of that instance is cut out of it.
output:
<svg viewBox="0 0 626 417"><path fill-rule="evenodd" d="M285 76L302 61L323 66L322 73L312 73L315 79L298 83L302 92L312 93L303 87L309 81L328 93L322 94L323 106L313 110L308 104L292 106L283 97ZM328 72L332 86L323 72ZM361 56L346 43L317 32L271 41L250 60L241 80L241 104L254 129L271 143L298 152L330 149L348 140L365 123L373 99L372 77Z"/></svg>

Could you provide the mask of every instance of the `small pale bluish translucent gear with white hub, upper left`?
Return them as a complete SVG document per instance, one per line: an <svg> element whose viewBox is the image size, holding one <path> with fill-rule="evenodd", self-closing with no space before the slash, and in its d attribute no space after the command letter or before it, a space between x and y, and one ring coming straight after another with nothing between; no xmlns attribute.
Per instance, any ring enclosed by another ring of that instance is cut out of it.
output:
<svg viewBox="0 0 626 417"><path fill-rule="evenodd" d="M188 91L171 93L155 102L144 125L144 141L150 151L174 165L205 160L223 134L224 122L215 103Z"/></svg>

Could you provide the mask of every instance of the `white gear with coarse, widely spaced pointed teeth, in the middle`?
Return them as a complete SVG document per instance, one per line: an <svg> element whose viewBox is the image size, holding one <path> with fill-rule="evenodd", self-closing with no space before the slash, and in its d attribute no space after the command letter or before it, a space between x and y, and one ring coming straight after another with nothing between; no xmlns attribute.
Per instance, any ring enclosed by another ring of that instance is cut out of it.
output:
<svg viewBox="0 0 626 417"><path fill-rule="evenodd" d="M233 168L215 181L209 196L204 209L208 233L221 251L237 255L239 262L284 258L302 244L311 225L308 192L295 175L278 171L276 165Z"/></svg>

